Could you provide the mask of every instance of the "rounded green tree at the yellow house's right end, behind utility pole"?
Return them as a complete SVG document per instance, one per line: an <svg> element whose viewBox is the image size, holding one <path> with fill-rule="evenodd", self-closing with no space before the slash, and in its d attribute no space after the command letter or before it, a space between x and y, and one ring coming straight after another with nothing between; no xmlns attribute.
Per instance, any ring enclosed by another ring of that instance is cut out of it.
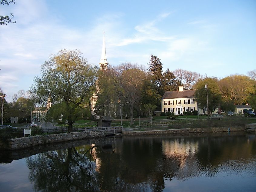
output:
<svg viewBox="0 0 256 192"><path fill-rule="evenodd" d="M199 80L196 84L195 101L203 108L207 106L207 95L204 85L208 84L208 105L211 112L214 108L218 108L221 102L221 92L218 87L218 81L214 78L205 78Z"/></svg>

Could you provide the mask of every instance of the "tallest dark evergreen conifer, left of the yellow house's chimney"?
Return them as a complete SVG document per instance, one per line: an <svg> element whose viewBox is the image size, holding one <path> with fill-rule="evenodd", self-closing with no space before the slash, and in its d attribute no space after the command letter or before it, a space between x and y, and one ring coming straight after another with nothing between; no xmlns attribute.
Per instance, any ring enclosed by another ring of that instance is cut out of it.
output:
<svg viewBox="0 0 256 192"><path fill-rule="evenodd" d="M158 87L158 89L160 89L162 85L162 79L163 79L163 75L162 75L163 65L161 63L160 58L158 58L155 55L153 56L151 54L149 58L148 66L149 66L149 72L152 75L152 82Z"/></svg>

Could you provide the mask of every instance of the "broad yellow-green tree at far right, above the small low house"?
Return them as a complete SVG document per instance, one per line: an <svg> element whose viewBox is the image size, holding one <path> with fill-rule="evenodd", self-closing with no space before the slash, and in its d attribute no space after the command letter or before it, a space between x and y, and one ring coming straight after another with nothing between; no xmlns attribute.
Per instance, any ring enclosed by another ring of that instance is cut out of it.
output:
<svg viewBox="0 0 256 192"><path fill-rule="evenodd" d="M248 96L255 93L254 81L245 75L231 75L218 84L223 98L239 105L247 103Z"/></svg>

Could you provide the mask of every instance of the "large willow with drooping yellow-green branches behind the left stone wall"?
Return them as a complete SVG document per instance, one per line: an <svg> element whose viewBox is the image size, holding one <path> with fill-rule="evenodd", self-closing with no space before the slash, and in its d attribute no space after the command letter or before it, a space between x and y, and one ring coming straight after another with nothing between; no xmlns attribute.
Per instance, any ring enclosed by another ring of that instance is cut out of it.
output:
<svg viewBox="0 0 256 192"><path fill-rule="evenodd" d="M66 118L71 132L79 111L88 106L95 91L97 68L80 51L64 49L52 55L41 70L41 77L35 77L31 91L39 104L52 103L50 115Z"/></svg>

